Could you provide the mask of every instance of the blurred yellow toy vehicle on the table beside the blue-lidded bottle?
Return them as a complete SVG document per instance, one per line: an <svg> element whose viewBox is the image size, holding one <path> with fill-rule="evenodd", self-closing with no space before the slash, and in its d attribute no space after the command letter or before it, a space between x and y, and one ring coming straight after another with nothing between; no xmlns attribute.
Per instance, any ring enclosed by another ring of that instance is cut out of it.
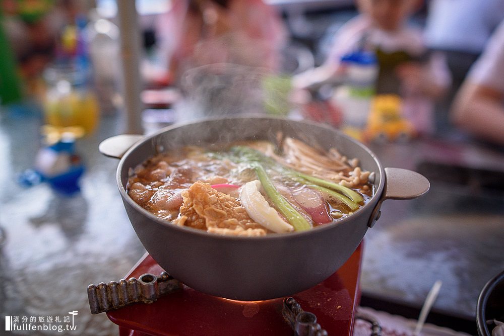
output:
<svg viewBox="0 0 504 336"><path fill-rule="evenodd" d="M371 141L404 141L416 135L413 124L402 116L401 98L396 95L373 99L364 133Z"/></svg>

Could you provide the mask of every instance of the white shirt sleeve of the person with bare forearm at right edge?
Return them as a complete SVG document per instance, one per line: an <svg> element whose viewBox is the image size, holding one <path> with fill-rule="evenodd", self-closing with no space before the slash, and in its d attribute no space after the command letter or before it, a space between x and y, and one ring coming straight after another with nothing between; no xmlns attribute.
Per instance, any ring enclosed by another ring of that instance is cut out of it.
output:
<svg viewBox="0 0 504 336"><path fill-rule="evenodd" d="M469 71L469 79L504 93L504 21Z"/></svg>

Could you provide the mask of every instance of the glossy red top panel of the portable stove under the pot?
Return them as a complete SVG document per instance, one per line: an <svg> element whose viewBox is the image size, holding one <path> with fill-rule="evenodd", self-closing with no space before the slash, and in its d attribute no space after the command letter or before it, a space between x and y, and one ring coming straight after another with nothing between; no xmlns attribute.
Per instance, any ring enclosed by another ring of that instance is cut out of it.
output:
<svg viewBox="0 0 504 336"><path fill-rule="evenodd" d="M348 261L322 283L293 295L305 311L314 313L317 322L330 335L351 335L362 244ZM144 256L125 276L139 278L144 273L160 274L161 267L151 256ZM282 298L257 301L231 301L184 286L151 304L137 303L107 312L121 330L136 330L149 335L292 335L282 316Z"/></svg>

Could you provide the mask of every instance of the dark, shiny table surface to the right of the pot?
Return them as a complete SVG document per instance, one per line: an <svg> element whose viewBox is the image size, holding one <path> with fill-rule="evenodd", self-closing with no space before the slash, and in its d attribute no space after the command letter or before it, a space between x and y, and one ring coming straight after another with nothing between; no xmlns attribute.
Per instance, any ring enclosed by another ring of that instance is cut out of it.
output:
<svg viewBox="0 0 504 336"><path fill-rule="evenodd" d="M384 202L365 236L363 291L418 306L442 280L434 308L473 319L479 292L504 270L504 151L457 134L370 148L431 186Z"/></svg>

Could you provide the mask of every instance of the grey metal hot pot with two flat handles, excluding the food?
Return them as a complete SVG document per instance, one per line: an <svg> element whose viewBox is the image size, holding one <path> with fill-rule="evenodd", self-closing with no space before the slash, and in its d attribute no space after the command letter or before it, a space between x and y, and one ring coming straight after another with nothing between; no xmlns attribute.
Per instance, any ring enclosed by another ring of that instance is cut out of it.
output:
<svg viewBox="0 0 504 336"><path fill-rule="evenodd" d="M337 147L374 172L374 195L353 215L310 231L236 237L209 234L156 218L127 193L129 172L147 158L184 145L250 139L275 139L278 131L323 148ZM207 119L164 128L148 136L118 135L103 141L100 152L120 158L117 186L130 221L154 260L173 277L215 296L265 300L308 289L335 273L380 217L386 199L412 199L429 182L403 169L384 168L362 143L334 128L306 121L264 116Z"/></svg>

